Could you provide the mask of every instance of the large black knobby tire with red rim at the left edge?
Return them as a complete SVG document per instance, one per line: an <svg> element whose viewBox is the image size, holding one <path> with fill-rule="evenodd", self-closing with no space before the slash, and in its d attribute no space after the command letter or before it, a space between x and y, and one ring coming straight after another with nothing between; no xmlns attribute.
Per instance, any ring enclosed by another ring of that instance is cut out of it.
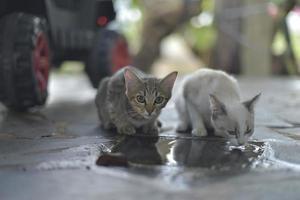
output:
<svg viewBox="0 0 300 200"><path fill-rule="evenodd" d="M13 13L0 27L1 102L18 111L43 105L50 67L46 20Z"/></svg>

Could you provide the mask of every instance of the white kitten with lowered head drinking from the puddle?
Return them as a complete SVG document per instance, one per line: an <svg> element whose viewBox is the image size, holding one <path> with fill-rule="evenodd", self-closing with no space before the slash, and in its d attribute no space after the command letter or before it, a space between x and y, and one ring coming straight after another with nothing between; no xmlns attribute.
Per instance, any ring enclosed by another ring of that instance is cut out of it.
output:
<svg viewBox="0 0 300 200"><path fill-rule="evenodd" d="M183 80L175 99L181 120L177 131L191 129L195 136L213 131L245 144L254 131L254 104L259 96L241 102L235 78L223 71L200 69Z"/></svg>

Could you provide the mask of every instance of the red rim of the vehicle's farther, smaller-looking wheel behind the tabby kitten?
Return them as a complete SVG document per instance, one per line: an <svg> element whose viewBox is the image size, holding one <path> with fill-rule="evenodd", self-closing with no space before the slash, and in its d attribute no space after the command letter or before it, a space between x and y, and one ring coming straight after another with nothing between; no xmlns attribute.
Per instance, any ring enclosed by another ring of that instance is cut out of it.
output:
<svg viewBox="0 0 300 200"><path fill-rule="evenodd" d="M113 47L111 63L113 73L131 63L128 45L124 39L119 39Z"/></svg>

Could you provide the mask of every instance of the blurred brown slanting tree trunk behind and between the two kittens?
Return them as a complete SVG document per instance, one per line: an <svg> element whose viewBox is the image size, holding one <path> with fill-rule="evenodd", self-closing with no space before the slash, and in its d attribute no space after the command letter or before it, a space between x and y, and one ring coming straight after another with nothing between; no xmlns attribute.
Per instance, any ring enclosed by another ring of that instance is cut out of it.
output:
<svg viewBox="0 0 300 200"><path fill-rule="evenodd" d="M160 55L161 41L199 13L200 0L144 0L141 3L145 20L141 47L133 64L147 72Z"/></svg>

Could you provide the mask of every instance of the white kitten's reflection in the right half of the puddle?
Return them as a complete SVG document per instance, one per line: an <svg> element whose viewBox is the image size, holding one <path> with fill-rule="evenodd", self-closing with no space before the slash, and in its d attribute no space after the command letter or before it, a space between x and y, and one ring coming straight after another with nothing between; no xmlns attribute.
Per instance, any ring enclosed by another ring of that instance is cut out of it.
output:
<svg viewBox="0 0 300 200"><path fill-rule="evenodd" d="M231 171L251 168L263 151L263 142L250 142L242 150L232 148L227 141L179 139L173 157L181 166Z"/></svg>

